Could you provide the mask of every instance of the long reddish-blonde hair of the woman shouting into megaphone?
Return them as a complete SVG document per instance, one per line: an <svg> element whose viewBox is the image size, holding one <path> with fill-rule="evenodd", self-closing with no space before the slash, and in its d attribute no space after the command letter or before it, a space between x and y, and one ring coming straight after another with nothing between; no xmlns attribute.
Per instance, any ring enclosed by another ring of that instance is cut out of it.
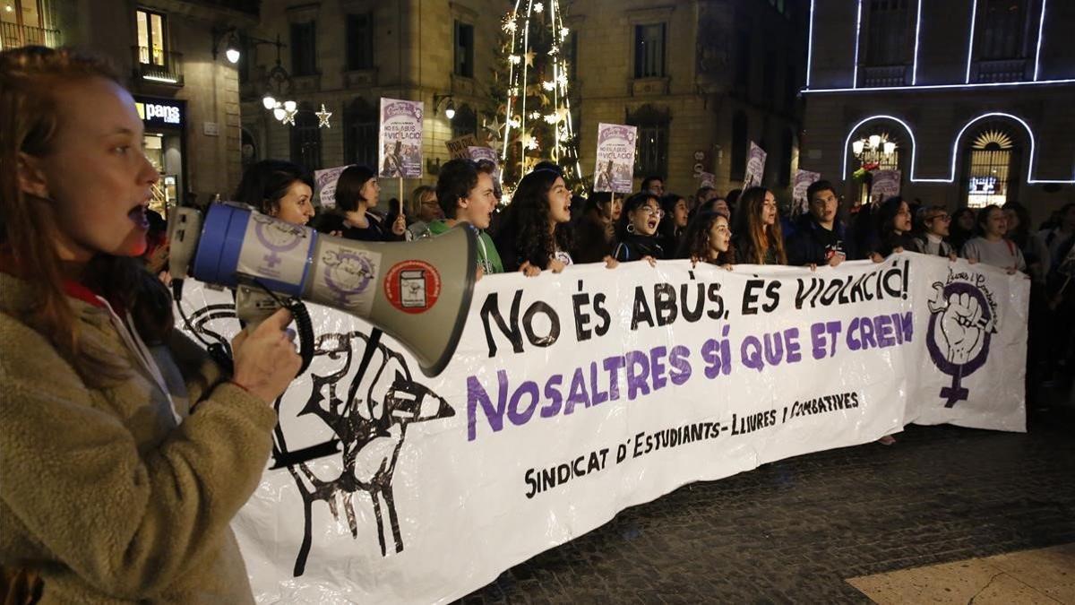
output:
<svg viewBox="0 0 1075 605"><path fill-rule="evenodd" d="M20 319L48 338L88 384L102 385L121 379L125 364L80 338L55 248L54 202L25 193L18 182L19 154L43 157L54 150L59 85L92 78L119 82L104 60L70 48L26 46L0 53L0 254L33 292L34 302ZM134 259L98 255L84 281L130 308L145 283L139 269Z"/></svg>

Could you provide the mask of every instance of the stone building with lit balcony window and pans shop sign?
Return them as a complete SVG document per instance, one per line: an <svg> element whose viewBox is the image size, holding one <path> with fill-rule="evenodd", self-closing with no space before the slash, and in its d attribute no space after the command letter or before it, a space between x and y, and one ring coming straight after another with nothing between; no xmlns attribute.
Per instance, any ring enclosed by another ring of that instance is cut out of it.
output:
<svg viewBox="0 0 1075 605"><path fill-rule="evenodd" d="M146 154L162 178L154 207L227 198L239 184L240 115L227 31L258 23L248 0L41 0L58 43L108 57L134 95Z"/></svg>

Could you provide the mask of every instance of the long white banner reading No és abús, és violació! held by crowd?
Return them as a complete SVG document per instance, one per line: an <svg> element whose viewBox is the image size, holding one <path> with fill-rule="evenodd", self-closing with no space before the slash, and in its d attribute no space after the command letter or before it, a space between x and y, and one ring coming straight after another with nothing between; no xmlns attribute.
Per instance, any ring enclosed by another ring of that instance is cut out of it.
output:
<svg viewBox="0 0 1075 605"><path fill-rule="evenodd" d="M447 602L691 481L911 422L1024 431L1028 296L1021 273L914 253L486 276L436 378L387 336L356 377L369 325L312 306L276 447L343 451L266 470L235 518L255 595ZM238 330L231 304L187 285L210 339Z"/></svg>

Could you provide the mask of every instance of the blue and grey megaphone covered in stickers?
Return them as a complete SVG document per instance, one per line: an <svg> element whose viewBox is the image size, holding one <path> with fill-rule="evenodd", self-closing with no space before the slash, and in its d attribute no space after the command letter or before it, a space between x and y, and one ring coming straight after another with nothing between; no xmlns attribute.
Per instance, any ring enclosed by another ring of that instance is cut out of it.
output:
<svg viewBox="0 0 1075 605"><path fill-rule="evenodd" d="M221 202L204 221L175 208L168 227L173 280L235 289L241 319L263 319L281 297L332 307L396 338L426 376L444 369L462 336L477 266L469 225L406 243L353 241Z"/></svg>

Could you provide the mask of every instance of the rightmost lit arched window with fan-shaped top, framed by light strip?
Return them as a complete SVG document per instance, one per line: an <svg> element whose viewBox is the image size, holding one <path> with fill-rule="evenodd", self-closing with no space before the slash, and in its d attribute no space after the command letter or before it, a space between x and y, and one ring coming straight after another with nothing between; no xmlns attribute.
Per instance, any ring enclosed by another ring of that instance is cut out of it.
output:
<svg viewBox="0 0 1075 605"><path fill-rule="evenodd" d="M1019 147L1001 125L987 124L966 139L963 192L966 206L984 208L1014 199L1019 184Z"/></svg>

